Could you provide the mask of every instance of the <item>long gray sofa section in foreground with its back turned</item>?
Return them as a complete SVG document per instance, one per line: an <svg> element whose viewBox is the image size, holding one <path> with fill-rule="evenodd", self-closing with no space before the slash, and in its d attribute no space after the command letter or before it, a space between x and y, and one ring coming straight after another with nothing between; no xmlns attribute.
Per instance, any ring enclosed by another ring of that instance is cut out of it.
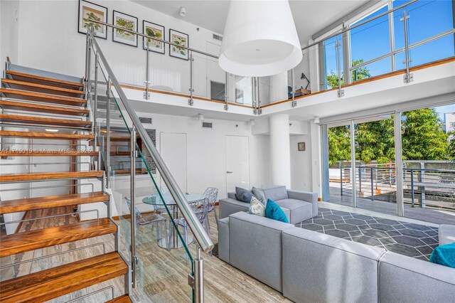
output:
<svg viewBox="0 0 455 303"><path fill-rule="evenodd" d="M453 302L455 269L245 212L218 222L221 260L294 302Z"/></svg>

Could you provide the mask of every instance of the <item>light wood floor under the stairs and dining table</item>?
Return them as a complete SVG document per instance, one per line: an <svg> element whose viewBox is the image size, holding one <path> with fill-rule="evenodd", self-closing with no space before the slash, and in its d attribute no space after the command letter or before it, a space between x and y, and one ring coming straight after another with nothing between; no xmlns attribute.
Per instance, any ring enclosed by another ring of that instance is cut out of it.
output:
<svg viewBox="0 0 455 303"><path fill-rule="evenodd" d="M70 213L70 208L53 208L45 211L35 211L33 214L28 213L28 218L36 216L50 216L55 213ZM20 231L50 227L74 223L73 216L64 216L57 218L48 218L42 220L34 220L23 223ZM120 218L117 223L120 223L122 230L122 238L128 234L129 237L129 221ZM139 258L137 270L137 289L134 289L133 297L137 302L191 302L191 287L188 286L188 273L191 272L191 262L186 257L183 248L168 251L159 248L156 241L156 231L151 231L150 225L140 226L138 228L137 237L137 257ZM215 223L213 213L210 214L210 238L214 243L218 243L218 230ZM114 237L105 235L102 237L92 238L88 240L80 240L75 243L65 245L56 245L51 248L35 250L15 255L11 258L13 262L29 260L32 257L40 257L42 255L50 255L55 252L80 248L85 245L95 243L105 243L106 251L114 250ZM122 239L122 251L127 252L125 248L129 247L129 243L125 245ZM191 244L189 250L191 255L196 255L196 245ZM43 270L50 267L55 267L68 262L81 260L82 258L100 255L102 246L87 248L85 250L77 250L68 252L55 257L27 262L22 265L14 266L16 275L27 275L31 272ZM261 282L237 270L235 267L228 265L218 257L204 257L204 273L205 273L205 301L206 302L290 302L284 298L282 294L274 289L263 285ZM2 276L4 272L1 272ZM124 279L119 277L113 280L82 289L78 292L67 294L51 302L68 302L84 294L94 292L103 287L114 287L115 296L124 293ZM77 302L105 302L112 298L111 290L107 289L98 294L94 294L85 299L80 299Z"/></svg>

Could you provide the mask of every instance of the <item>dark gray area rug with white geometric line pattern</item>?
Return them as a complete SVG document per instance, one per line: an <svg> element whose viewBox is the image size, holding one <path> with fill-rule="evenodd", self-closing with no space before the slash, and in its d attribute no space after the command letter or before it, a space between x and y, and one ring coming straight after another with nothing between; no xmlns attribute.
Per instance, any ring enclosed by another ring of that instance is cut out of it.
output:
<svg viewBox="0 0 455 303"><path fill-rule="evenodd" d="M438 228L329 208L319 208L317 217L296 226L421 260L429 260L438 245Z"/></svg>

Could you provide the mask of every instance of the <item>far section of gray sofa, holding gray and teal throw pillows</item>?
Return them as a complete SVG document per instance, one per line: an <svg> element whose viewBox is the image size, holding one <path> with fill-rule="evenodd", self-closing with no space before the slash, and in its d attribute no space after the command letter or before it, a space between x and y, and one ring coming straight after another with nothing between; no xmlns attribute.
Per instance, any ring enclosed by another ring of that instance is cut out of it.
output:
<svg viewBox="0 0 455 303"><path fill-rule="evenodd" d="M309 191L294 191L286 186L273 186L262 189L266 199L275 201L286 214L289 223L296 224L318 216L318 195ZM238 201L235 193L220 199L220 218L226 218L238 211L248 211L250 203Z"/></svg>

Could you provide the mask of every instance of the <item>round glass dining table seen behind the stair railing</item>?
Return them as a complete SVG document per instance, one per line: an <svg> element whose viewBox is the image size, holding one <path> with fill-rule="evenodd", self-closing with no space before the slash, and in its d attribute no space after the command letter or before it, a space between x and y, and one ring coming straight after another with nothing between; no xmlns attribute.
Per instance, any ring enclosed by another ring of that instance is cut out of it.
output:
<svg viewBox="0 0 455 303"><path fill-rule="evenodd" d="M173 200L171 193L167 191L167 188L160 188L161 196L163 197L164 203L166 203L166 206L170 206L169 211L172 213L172 217L174 220L178 218L178 207L176 205L176 201ZM204 201L205 196L201 193L185 193L186 201L190 205L197 204L199 202ZM142 199L142 202L153 205L155 208L165 208L164 203L161 200L161 197L159 196L159 193L154 193L151 196L146 196ZM183 237L183 235L182 235ZM190 245L193 243L193 235L188 234L188 243L186 245ZM159 246L161 248L168 248L168 249L173 249L173 248L183 248L183 243L181 241L181 238L178 237L177 230L174 228L174 225L172 222L169 222L169 238L168 238L168 246L166 247L166 240L161 239L159 240Z"/></svg>

